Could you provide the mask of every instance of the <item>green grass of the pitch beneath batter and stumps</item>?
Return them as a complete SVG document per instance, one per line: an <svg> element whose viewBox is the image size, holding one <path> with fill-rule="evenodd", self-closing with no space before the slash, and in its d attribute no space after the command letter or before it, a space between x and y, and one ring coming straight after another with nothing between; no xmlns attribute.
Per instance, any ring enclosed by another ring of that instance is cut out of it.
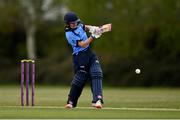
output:
<svg viewBox="0 0 180 120"><path fill-rule="evenodd" d="M67 87L36 86L35 104L37 107L22 108L20 106L20 86L1 86L0 118L180 118L180 89L104 88L104 108L120 109L100 110L62 108L66 103L68 92ZM89 88L83 91L78 106L91 106ZM177 109L177 111L169 109Z"/></svg>

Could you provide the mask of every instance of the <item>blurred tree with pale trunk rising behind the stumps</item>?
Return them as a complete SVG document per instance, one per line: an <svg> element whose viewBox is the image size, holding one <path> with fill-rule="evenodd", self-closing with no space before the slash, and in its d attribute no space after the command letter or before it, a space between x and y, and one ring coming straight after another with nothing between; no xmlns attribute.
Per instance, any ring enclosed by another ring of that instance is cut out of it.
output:
<svg viewBox="0 0 180 120"><path fill-rule="evenodd" d="M26 30L27 56L36 59L35 34L37 25L44 20L56 20L67 12L68 8L63 2L55 0L19 0L22 10L23 23Z"/></svg>

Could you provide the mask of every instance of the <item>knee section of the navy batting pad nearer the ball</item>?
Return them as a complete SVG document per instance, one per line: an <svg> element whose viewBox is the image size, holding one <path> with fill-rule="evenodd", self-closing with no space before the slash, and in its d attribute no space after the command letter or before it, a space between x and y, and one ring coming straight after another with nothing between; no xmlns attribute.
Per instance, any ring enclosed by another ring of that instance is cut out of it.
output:
<svg viewBox="0 0 180 120"><path fill-rule="evenodd" d="M90 74L92 79L102 79L103 73L99 61L95 61L90 67Z"/></svg>

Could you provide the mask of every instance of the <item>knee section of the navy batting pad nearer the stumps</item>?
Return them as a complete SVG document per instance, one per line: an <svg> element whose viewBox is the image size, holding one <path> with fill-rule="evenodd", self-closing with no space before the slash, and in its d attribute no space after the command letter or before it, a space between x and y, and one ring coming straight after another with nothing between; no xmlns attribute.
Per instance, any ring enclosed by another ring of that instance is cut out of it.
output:
<svg viewBox="0 0 180 120"><path fill-rule="evenodd" d="M77 85L78 87L83 87L87 80L87 72L84 70L79 70L74 75L71 84Z"/></svg>

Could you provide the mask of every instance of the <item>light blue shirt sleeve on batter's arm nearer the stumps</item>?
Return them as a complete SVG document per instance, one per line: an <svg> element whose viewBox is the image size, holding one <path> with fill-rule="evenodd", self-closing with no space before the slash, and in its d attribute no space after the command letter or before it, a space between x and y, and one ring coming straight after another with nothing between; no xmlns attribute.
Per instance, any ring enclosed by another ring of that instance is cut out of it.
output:
<svg viewBox="0 0 180 120"><path fill-rule="evenodd" d="M66 32L66 39L71 46L78 46L78 41L80 40L80 38L72 32Z"/></svg>

